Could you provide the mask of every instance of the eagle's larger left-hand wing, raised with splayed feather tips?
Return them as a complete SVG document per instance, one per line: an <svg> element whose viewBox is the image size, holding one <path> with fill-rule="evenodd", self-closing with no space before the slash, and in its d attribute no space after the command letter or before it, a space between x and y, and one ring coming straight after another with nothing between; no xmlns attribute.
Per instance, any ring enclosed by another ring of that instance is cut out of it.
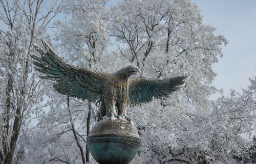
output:
<svg viewBox="0 0 256 164"><path fill-rule="evenodd" d="M56 81L57 83L53 87L61 94L82 100L96 101L104 89L102 84L107 80L108 74L74 67L59 58L44 40L42 40L42 44L46 48L46 52L35 46L41 54L41 58L32 55L35 59L33 63L36 70L46 74L41 78Z"/></svg>

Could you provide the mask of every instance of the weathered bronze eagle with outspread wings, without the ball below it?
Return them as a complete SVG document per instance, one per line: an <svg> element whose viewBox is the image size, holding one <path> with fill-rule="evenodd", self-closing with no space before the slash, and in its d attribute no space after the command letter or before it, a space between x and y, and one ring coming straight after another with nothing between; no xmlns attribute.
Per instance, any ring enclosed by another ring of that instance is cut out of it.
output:
<svg viewBox="0 0 256 164"><path fill-rule="evenodd" d="M36 70L45 74L44 79L56 81L54 88L57 92L95 102L100 99L98 117L111 119L126 118L126 106L150 102L154 98L160 99L170 93L184 88L189 76L179 76L167 79L147 79L144 77L130 77L139 72L138 68L128 66L115 73L92 71L84 67L75 67L58 57L52 48L42 40L46 51L35 46L41 54L32 54ZM117 110L116 110L117 106Z"/></svg>

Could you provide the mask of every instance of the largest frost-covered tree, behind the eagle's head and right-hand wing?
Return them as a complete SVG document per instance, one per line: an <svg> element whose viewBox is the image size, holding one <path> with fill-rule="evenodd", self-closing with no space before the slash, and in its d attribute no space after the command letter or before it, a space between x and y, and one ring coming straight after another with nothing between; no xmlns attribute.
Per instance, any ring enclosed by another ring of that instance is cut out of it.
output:
<svg viewBox="0 0 256 164"><path fill-rule="evenodd" d="M184 91L130 109L144 141L138 158L145 163L207 160L201 153L209 147L203 134L207 127L199 126L208 123L215 77L211 65L227 40L202 24L190 1L123 1L112 8L111 18L119 57L139 67L143 76L191 75Z"/></svg>

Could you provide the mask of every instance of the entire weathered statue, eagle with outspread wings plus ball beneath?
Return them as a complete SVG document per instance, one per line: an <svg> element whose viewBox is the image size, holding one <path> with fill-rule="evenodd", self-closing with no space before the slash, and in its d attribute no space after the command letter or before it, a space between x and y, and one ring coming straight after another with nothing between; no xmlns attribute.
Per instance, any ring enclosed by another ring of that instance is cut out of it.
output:
<svg viewBox="0 0 256 164"><path fill-rule="evenodd" d="M87 138L94 159L99 163L128 163L136 155L141 140L137 129L125 118L126 106L150 102L154 98L166 97L184 88L189 76L167 79L133 78L138 68L128 66L115 73L92 71L72 66L42 40L46 51L35 46L41 57L32 55L36 70L45 74L45 79L56 81L54 88L61 94L95 102L100 98L99 120ZM116 108L117 106L117 108Z"/></svg>

